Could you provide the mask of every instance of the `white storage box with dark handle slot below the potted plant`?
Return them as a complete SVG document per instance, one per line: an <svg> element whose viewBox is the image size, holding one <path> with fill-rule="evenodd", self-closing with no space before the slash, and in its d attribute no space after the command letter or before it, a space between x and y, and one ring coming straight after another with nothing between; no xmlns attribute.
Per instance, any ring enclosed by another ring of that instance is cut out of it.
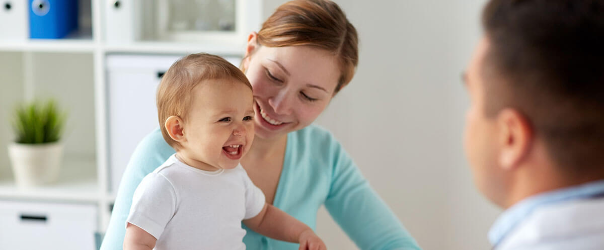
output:
<svg viewBox="0 0 604 250"><path fill-rule="evenodd" d="M0 249L94 250L95 205L0 200Z"/></svg>

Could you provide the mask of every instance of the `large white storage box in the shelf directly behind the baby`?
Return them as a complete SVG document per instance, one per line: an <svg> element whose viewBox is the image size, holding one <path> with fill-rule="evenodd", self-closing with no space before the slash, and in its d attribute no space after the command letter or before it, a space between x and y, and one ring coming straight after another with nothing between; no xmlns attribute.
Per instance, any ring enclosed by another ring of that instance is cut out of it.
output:
<svg viewBox="0 0 604 250"><path fill-rule="evenodd" d="M180 56L107 57L109 171L116 193L130 155L141 139L159 127L155 94L161 75ZM240 58L225 58L239 65ZM159 167L156 166L156 167Z"/></svg>

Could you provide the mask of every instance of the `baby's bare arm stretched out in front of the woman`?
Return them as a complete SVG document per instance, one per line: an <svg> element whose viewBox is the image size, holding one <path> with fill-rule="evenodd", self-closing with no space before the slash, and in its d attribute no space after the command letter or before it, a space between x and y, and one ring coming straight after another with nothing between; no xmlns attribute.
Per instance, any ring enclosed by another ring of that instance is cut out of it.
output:
<svg viewBox="0 0 604 250"><path fill-rule="evenodd" d="M300 243L300 249L303 250L327 249L309 226L269 204L265 204L257 216L243 220L243 223L255 232L272 239Z"/></svg>

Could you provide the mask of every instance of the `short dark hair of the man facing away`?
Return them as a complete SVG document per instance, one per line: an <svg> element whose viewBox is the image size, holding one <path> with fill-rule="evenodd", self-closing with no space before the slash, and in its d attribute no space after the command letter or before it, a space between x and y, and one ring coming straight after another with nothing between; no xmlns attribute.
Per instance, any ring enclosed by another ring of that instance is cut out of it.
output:
<svg viewBox="0 0 604 250"><path fill-rule="evenodd" d="M483 79L487 116L512 107L554 164L604 173L604 0L492 0Z"/></svg>

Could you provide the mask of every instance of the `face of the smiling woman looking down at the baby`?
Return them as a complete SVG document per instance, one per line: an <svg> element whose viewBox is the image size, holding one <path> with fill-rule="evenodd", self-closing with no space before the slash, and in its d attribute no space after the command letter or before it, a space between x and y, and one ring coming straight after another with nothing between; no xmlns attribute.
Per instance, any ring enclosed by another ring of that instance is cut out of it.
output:
<svg viewBox="0 0 604 250"><path fill-rule="evenodd" d="M336 57L311 46L255 46L243 63L254 88L255 135L265 139L312 123L340 76Z"/></svg>

